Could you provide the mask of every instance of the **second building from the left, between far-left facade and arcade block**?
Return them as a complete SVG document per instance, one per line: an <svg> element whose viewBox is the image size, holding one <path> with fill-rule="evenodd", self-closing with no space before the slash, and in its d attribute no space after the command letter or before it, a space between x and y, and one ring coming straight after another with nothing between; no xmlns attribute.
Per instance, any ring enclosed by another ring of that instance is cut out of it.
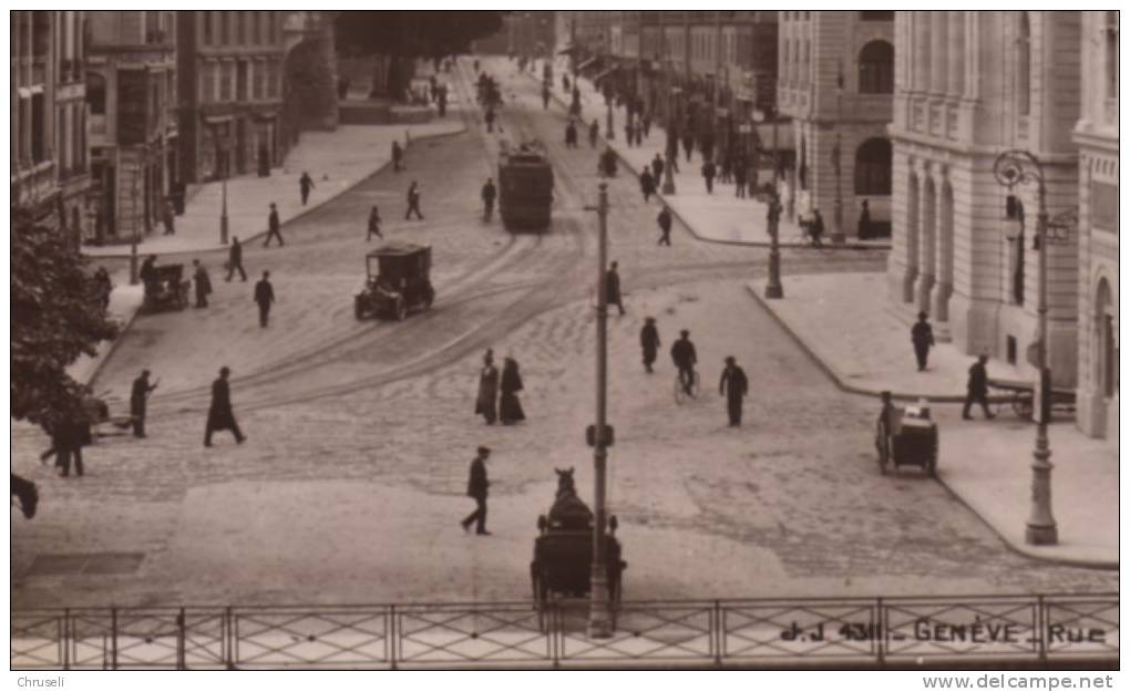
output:
<svg viewBox="0 0 1130 692"><path fill-rule="evenodd" d="M175 15L92 11L86 70L95 243L124 243L158 226L176 186Z"/></svg>

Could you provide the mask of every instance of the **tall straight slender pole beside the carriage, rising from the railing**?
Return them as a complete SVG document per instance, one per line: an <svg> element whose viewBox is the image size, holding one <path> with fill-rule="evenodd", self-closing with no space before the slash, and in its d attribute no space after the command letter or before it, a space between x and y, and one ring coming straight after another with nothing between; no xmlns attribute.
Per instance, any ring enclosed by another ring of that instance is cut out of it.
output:
<svg viewBox="0 0 1130 692"><path fill-rule="evenodd" d="M592 208L589 208L590 210ZM596 208L600 218L597 277L597 423L593 430L593 470L596 511L592 524L592 601L589 608L589 636L612 636L612 617L608 590L608 542L605 527L608 510L605 499L605 475L611 428L608 426L608 183L600 184L600 203Z"/></svg>

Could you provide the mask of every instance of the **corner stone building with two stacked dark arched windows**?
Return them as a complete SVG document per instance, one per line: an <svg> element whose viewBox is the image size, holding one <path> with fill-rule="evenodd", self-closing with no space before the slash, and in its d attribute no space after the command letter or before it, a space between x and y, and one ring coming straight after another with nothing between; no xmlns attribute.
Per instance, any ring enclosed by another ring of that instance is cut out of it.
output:
<svg viewBox="0 0 1130 692"><path fill-rule="evenodd" d="M782 11L777 105L793 120L796 165L782 190L786 211L824 217L833 240L890 228L894 12Z"/></svg>

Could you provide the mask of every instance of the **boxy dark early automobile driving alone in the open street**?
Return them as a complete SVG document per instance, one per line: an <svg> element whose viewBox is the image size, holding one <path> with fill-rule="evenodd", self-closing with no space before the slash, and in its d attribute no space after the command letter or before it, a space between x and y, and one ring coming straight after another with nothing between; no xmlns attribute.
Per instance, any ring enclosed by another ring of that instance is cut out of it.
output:
<svg viewBox="0 0 1130 692"><path fill-rule="evenodd" d="M435 300L431 245L386 243L365 256L365 286L354 297L357 319L403 319L409 310L427 309Z"/></svg>

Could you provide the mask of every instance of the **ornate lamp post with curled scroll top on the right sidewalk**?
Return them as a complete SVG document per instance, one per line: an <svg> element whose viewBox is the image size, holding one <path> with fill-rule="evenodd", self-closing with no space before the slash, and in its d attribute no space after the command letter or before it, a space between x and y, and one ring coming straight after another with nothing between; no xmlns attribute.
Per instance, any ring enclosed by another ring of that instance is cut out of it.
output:
<svg viewBox="0 0 1130 692"><path fill-rule="evenodd" d="M1040 159L1028 151L1010 149L993 163L997 182L1012 190L1015 185L1036 184L1040 213L1036 217L1036 242L1040 244L1040 290L1036 301L1036 361L1040 367L1040 409L1036 418L1036 446L1032 452L1032 513L1024 538L1032 545L1054 545L1059 542L1055 519L1052 517L1052 456L1048 440L1048 419L1051 414L1051 368L1048 365L1048 202L1044 169Z"/></svg>

